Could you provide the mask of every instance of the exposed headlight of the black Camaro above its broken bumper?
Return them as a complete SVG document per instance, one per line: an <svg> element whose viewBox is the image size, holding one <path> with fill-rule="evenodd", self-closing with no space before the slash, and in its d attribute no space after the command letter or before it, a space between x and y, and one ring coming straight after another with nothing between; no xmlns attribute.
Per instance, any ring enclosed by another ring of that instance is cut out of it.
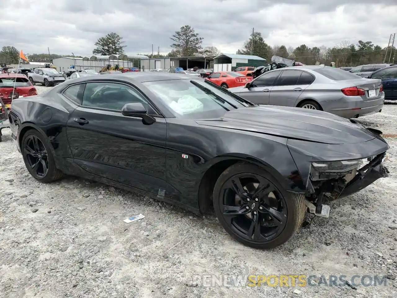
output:
<svg viewBox="0 0 397 298"><path fill-rule="evenodd" d="M348 161L327 161L314 162L310 167L312 180L328 180L345 176L352 170L358 169L362 159L351 159Z"/></svg>

